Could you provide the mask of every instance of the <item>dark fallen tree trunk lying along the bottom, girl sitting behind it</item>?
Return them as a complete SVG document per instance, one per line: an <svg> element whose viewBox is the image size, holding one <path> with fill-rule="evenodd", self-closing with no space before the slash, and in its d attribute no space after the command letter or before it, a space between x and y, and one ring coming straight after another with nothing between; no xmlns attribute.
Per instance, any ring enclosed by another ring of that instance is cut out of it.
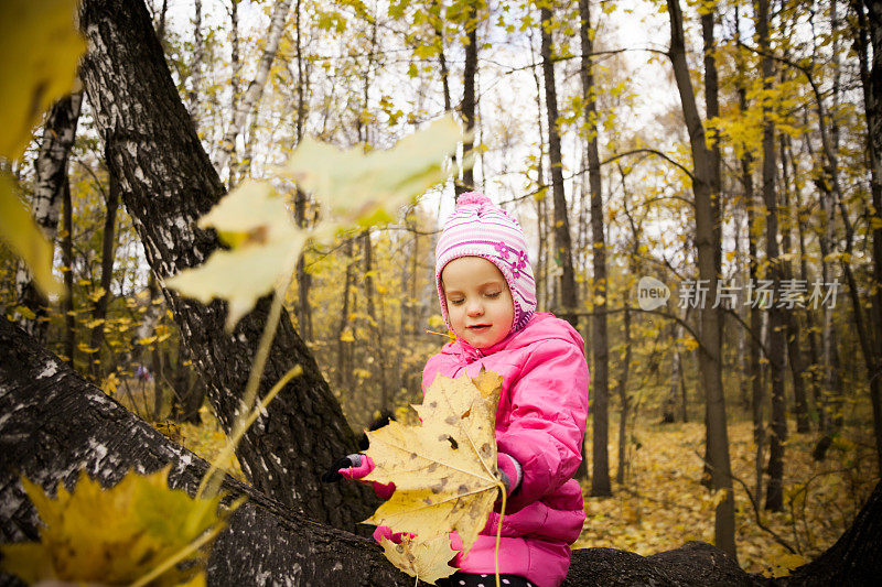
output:
<svg viewBox="0 0 882 587"><path fill-rule="evenodd" d="M0 318L1 542L39 540L39 520L21 476L46 489L58 481L71 488L85 469L112 486L131 468L152 472L168 464L170 485L191 494L208 467ZM215 543L209 585L413 584L368 539L311 520L233 478L223 489L229 499L247 496L248 501ZM872 585L882 576L879 552L882 483L843 536L788 578L747 575L722 551L690 542L645 557L613 548L577 550L564 586ZM0 585L18 584L0 576Z"/></svg>

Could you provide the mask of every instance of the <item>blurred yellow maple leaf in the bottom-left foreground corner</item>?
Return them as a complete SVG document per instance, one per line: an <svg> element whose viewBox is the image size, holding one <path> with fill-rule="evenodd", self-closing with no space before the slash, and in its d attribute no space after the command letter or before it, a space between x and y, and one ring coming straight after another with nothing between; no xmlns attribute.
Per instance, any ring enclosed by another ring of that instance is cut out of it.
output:
<svg viewBox="0 0 882 587"><path fill-rule="evenodd" d="M129 585L206 533L217 531L220 496L192 499L169 488L170 467L143 476L130 471L110 489L85 471L73 492L58 483L56 499L22 478L43 522L41 542L1 546L0 568L28 583L63 581ZM151 585L204 584L206 547L171 566Z"/></svg>

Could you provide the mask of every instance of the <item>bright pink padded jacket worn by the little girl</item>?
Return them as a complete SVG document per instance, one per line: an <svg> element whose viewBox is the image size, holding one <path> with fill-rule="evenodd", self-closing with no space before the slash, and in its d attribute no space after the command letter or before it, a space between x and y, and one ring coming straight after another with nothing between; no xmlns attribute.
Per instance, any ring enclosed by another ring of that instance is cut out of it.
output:
<svg viewBox="0 0 882 587"><path fill-rule="evenodd" d="M499 572L556 587L567 576L569 545L585 520L581 487L571 478L582 460L588 417L584 343L569 323L536 313L524 328L490 348L476 349L461 339L444 345L426 363L422 387L438 373L475 377L481 367L503 378L496 444L523 468L503 518ZM460 570L494 572L498 523L498 513L491 513L469 554L458 557Z"/></svg>

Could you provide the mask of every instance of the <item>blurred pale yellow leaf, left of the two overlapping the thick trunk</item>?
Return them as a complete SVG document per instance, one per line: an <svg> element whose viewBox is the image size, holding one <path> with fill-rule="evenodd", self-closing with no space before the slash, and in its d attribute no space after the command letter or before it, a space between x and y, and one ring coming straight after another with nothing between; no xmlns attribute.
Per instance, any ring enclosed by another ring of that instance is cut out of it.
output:
<svg viewBox="0 0 882 587"><path fill-rule="evenodd" d="M230 250L166 280L166 285L207 304L229 302L227 329L293 271L306 232L294 226L284 204L268 183L246 181L200 219L213 227Z"/></svg>

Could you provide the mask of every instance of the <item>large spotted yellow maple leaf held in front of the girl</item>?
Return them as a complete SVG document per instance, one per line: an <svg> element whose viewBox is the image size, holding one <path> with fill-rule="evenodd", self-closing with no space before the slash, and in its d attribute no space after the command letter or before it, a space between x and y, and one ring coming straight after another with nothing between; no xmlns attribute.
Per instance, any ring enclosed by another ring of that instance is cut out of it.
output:
<svg viewBox="0 0 882 587"><path fill-rule="evenodd" d="M415 405L422 422L390 422L368 432L375 469L367 480L395 482L395 493L365 523L388 525L428 539L455 530L467 552L484 528L501 487L493 436L501 381L484 373L475 387L469 376L438 376ZM483 390L483 391L482 391Z"/></svg>

